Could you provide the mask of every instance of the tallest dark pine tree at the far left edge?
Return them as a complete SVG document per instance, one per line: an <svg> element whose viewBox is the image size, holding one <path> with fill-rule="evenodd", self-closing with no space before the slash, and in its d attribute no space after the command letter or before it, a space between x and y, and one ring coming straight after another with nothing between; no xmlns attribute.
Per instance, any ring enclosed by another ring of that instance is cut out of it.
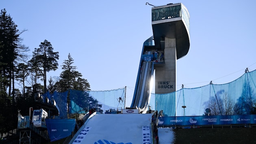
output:
<svg viewBox="0 0 256 144"><path fill-rule="evenodd" d="M21 44L22 38L17 25L7 11L0 12L0 132L17 127L17 109L15 107L14 73L15 64L24 61L28 47ZM9 92L7 94L7 91ZM12 92L12 97L11 97ZM12 99L12 100L11 100Z"/></svg>

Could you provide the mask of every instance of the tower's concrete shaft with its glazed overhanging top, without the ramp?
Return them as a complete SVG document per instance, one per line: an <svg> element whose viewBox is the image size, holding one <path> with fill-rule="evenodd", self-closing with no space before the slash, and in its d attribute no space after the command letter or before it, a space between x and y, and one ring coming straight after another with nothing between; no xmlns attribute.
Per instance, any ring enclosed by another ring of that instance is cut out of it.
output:
<svg viewBox="0 0 256 144"><path fill-rule="evenodd" d="M182 4L167 4L152 8L152 29L158 51L164 51L163 64L155 64L155 93L176 91L176 60L187 55L189 12Z"/></svg>

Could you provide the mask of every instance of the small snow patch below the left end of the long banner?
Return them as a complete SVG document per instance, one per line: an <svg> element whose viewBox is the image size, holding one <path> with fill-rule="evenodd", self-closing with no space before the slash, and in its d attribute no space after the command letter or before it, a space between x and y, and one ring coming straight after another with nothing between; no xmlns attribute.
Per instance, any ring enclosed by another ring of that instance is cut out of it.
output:
<svg viewBox="0 0 256 144"><path fill-rule="evenodd" d="M174 144L174 131L170 127L158 127L159 144Z"/></svg>

